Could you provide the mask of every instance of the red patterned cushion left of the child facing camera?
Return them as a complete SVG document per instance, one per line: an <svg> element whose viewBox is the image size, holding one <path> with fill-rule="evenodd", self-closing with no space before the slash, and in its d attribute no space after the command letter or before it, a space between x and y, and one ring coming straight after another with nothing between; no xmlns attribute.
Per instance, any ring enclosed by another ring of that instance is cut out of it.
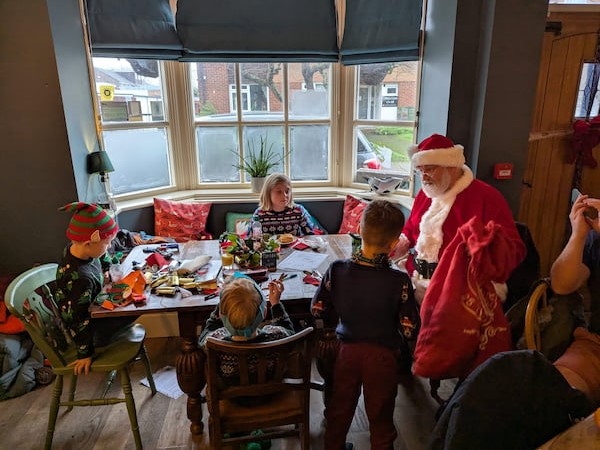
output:
<svg viewBox="0 0 600 450"><path fill-rule="evenodd" d="M201 239L211 203L174 202L154 199L154 234L177 242Z"/></svg>

